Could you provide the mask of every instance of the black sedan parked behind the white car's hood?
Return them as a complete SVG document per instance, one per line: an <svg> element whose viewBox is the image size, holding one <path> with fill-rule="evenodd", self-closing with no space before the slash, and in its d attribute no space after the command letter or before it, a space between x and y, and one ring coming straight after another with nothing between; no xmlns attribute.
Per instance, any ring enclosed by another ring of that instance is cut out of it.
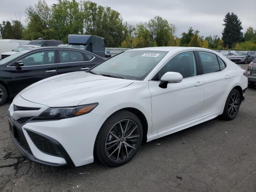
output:
<svg viewBox="0 0 256 192"><path fill-rule="evenodd" d="M105 59L91 52L65 47L28 48L0 60L0 105L42 79L86 71Z"/></svg>

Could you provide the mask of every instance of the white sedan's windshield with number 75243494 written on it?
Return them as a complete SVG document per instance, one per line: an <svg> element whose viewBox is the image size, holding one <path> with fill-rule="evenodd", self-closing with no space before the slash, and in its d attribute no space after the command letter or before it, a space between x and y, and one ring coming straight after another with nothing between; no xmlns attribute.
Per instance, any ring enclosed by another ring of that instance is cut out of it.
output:
<svg viewBox="0 0 256 192"><path fill-rule="evenodd" d="M126 51L109 58L90 71L124 79L143 80L166 54L166 51Z"/></svg>

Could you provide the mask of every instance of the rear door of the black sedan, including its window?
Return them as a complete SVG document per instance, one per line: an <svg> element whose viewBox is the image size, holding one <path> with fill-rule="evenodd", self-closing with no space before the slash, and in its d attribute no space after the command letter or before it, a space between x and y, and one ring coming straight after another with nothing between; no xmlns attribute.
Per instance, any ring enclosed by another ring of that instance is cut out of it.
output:
<svg viewBox="0 0 256 192"><path fill-rule="evenodd" d="M76 50L58 50L58 74L86 71L92 67L83 52Z"/></svg>

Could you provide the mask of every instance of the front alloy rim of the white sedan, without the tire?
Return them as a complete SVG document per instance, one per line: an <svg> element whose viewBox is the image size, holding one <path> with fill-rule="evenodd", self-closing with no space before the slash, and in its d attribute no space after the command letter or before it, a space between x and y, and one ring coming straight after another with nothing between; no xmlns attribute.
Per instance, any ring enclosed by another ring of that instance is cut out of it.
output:
<svg viewBox="0 0 256 192"><path fill-rule="evenodd" d="M108 132L105 150L108 158L120 162L129 158L140 140L138 125L130 119L117 122Z"/></svg>

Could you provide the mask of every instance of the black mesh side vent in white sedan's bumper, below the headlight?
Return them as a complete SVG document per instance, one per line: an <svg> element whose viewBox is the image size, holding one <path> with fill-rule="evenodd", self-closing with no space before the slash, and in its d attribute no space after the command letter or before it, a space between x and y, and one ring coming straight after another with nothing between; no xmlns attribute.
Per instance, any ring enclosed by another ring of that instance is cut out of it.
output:
<svg viewBox="0 0 256 192"><path fill-rule="evenodd" d="M63 157L60 151L58 150L56 144L48 140L47 138L38 135L34 132L28 131L28 135L30 136L32 142L35 144L35 146L42 151L43 153L57 156L57 157Z"/></svg>

